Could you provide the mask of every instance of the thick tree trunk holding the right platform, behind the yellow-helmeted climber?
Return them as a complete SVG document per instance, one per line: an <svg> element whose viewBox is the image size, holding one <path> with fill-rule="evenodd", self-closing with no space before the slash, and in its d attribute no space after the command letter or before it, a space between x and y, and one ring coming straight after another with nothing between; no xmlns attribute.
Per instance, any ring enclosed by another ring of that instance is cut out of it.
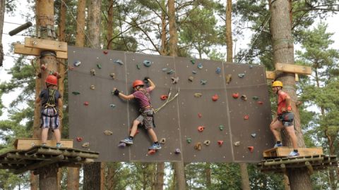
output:
<svg viewBox="0 0 339 190"><path fill-rule="evenodd" d="M273 37L273 63L294 64L293 39L290 22L289 3L285 0L272 1L271 11L271 32ZM280 73L278 80L284 84L284 91L290 94L292 99L292 110L295 113L295 129L298 139L298 146L305 147L302 137L300 115L295 100L297 94L295 90L295 75ZM285 130L284 130L285 131ZM282 134L283 144L292 146L286 132ZM290 179L290 187L295 189L312 189L311 179L307 169L287 169L287 175Z"/></svg>

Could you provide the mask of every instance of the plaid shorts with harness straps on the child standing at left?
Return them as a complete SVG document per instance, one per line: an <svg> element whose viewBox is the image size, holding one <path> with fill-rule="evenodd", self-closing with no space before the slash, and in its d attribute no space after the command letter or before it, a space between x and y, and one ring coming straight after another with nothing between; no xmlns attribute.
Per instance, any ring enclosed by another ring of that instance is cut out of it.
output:
<svg viewBox="0 0 339 190"><path fill-rule="evenodd" d="M59 114L54 108L44 108L41 111L41 125L42 129L58 129L60 125Z"/></svg>

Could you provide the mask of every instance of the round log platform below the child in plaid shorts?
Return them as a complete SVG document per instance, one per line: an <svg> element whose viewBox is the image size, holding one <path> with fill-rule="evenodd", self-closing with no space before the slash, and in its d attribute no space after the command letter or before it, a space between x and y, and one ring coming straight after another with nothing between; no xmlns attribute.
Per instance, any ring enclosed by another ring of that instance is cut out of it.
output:
<svg viewBox="0 0 339 190"><path fill-rule="evenodd" d="M75 148L55 146L33 146L28 150L8 151L0 155L0 169L8 169L15 174L55 164L57 167L80 167L82 163L93 162L99 153Z"/></svg>

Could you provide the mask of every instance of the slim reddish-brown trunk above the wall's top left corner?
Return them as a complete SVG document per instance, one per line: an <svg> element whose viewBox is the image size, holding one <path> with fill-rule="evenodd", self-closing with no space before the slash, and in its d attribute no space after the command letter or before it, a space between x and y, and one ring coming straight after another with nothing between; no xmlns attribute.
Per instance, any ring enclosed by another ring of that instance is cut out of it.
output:
<svg viewBox="0 0 339 190"><path fill-rule="evenodd" d="M86 0L78 0L78 13L76 16L76 46L85 46L85 8Z"/></svg>

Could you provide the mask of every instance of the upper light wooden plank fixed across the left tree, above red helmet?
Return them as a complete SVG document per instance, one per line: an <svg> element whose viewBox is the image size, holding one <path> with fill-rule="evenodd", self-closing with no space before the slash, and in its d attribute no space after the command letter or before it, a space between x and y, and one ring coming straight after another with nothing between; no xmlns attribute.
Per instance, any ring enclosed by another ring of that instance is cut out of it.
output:
<svg viewBox="0 0 339 190"><path fill-rule="evenodd" d="M58 42L58 41L49 40L49 39L38 39L38 38L26 37L25 47L67 52L66 42Z"/></svg>

